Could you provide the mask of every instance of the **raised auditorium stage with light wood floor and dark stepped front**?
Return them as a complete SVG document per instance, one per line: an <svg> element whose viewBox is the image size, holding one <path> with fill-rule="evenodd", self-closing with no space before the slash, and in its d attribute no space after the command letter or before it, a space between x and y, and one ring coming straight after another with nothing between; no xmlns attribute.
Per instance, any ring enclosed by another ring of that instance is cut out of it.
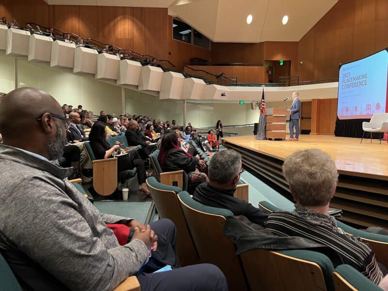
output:
<svg viewBox="0 0 388 291"><path fill-rule="evenodd" d="M254 135L223 138L227 148L242 154L246 168L267 178L284 192L281 173L287 156L299 149L319 148L336 162L339 183L330 206L343 210L342 220L362 226L388 227L387 141L327 135L301 135L299 141L259 141Z"/></svg>

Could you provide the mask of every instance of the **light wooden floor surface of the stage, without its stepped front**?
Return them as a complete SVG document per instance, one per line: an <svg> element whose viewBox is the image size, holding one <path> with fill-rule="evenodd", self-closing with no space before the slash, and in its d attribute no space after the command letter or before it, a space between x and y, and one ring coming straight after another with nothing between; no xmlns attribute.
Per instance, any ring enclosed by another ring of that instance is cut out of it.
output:
<svg viewBox="0 0 388 291"><path fill-rule="evenodd" d="M387 141L336 137L331 135L300 135L299 141L259 141L254 135L226 137L225 141L246 147L284 161L296 150L319 148L336 162L340 174L388 180Z"/></svg>

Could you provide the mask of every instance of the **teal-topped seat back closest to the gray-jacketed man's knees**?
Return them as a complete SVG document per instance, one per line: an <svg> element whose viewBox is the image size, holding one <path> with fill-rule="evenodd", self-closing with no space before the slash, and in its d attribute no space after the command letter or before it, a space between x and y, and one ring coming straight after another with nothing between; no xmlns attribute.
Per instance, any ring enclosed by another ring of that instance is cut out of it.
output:
<svg viewBox="0 0 388 291"><path fill-rule="evenodd" d="M159 217L170 219L177 227L177 257L179 265L198 264L199 259L193 238L178 200L178 193L182 192L182 190L178 187L161 184L155 177L147 178L146 183L158 210Z"/></svg>

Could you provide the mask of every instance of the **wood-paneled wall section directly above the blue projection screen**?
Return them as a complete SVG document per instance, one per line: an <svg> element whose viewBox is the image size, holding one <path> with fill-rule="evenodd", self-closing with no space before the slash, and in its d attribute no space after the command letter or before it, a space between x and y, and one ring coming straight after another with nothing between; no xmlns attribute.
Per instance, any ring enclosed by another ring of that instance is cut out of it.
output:
<svg viewBox="0 0 388 291"><path fill-rule="evenodd" d="M339 0L299 41L299 80L338 78L339 63L387 48L387 35L387 0Z"/></svg>

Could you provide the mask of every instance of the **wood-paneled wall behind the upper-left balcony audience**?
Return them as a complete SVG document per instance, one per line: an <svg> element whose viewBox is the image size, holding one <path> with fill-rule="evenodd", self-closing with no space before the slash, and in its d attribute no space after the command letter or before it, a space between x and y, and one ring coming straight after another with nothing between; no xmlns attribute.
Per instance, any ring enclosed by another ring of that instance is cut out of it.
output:
<svg viewBox="0 0 388 291"><path fill-rule="evenodd" d="M48 5L43 0L0 2L0 17L21 25L35 22L63 32L91 37L122 49L167 59L178 69L191 58L210 61L210 50L172 38L167 8Z"/></svg>

